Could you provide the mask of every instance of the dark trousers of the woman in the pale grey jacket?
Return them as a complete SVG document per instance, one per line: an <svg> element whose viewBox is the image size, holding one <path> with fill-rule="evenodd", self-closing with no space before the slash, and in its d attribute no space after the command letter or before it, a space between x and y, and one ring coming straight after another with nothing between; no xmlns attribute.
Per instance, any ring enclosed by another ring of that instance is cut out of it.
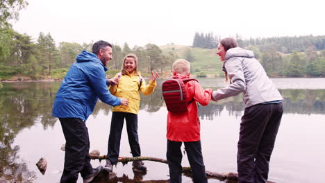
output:
<svg viewBox="0 0 325 183"><path fill-rule="evenodd" d="M238 182L267 182L269 160L283 114L283 103L247 107L240 123Z"/></svg>

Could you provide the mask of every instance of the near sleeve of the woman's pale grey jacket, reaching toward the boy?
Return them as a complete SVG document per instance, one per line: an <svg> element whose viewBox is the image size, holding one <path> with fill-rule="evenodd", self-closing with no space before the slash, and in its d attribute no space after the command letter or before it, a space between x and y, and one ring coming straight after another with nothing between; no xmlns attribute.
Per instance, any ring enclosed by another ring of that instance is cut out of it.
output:
<svg viewBox="0 0 325 183"><path fill-rule="evenodd" d="M240 58L230 59L226 62L225 67L233 84L213 91L213 101L218 101L229 96L236 96L246 89L242 60Z"/></svg>

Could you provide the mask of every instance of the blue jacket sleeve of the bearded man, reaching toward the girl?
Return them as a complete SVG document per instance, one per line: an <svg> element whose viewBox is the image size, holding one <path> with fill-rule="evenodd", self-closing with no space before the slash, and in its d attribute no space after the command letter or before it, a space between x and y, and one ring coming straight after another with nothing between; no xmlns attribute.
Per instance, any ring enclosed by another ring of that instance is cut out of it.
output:
<svg viewBox="0 0 325 183"><path fill-rule="evenodd" d="M113 96L108 91L106 85L105 71L99 67L91 67L89 69L89 80L90 85L94 89L95 94L101 99L103 103L107 103L108 105L121 105L121 99Z"/></svg>

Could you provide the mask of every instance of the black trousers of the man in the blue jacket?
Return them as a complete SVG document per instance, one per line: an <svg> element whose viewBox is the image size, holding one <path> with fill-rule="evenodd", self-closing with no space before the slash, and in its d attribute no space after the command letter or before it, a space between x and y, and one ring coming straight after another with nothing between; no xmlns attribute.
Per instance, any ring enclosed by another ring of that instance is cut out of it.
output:
<svg viewBox="0 0 325 183"><path fill-rule="evenodd" d="M78 173L85 177L93 171L89 156L88 128L81 119L59 120L65 135L65 166L60 182L76 182Z"/></svg>

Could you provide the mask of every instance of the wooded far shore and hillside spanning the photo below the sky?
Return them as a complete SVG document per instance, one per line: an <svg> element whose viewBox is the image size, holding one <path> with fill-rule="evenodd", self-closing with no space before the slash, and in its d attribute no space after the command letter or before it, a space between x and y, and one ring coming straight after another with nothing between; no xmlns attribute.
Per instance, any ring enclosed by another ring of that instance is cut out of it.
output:
<svg viewBox="0 0 325 183"><path fill-rule="evenodd" d="M0 6L0 80L12 76L28 76L33 80L42 78L63 78L74 62L76 55L83 50L91 51L93 42L78 44L75 42L55 42L51 33L40 33L37 40L30 35L18 33L9 23L18 19L19 10L26 7L24 0L3 1ZM122 60L128 53L135 53L139 58L142 73L156 70L160 73L170 72L172 62L177 58L185 58L192 62L192 71L206 76L206 71L215 67L207 62L199 53L213 52L221 37L213 33L195 33L193 45L179 51L176 45L172 49L147 44L130 48L125 42L123 46L113 45L113 60L109 69L117 71L122 67ZM272 77L323 77L325 65L325 35L300 37L269 37L243 40L235 37L241 47L254 51L256 58L263 64ZM169 45L170 46L170 45ZM197 49L196 48L201 48ZM211 50L211 51L209 51ZM216 55L208 55L219 60ZM211 59L211 58L209 58ZM210 64L206 70L200 65ZM219 67L219 65L218 65ZM208 68L208 69L207 69ZM219 68L218 68L219 69ZM219 76L217 74L216 76Z"/></svg>

